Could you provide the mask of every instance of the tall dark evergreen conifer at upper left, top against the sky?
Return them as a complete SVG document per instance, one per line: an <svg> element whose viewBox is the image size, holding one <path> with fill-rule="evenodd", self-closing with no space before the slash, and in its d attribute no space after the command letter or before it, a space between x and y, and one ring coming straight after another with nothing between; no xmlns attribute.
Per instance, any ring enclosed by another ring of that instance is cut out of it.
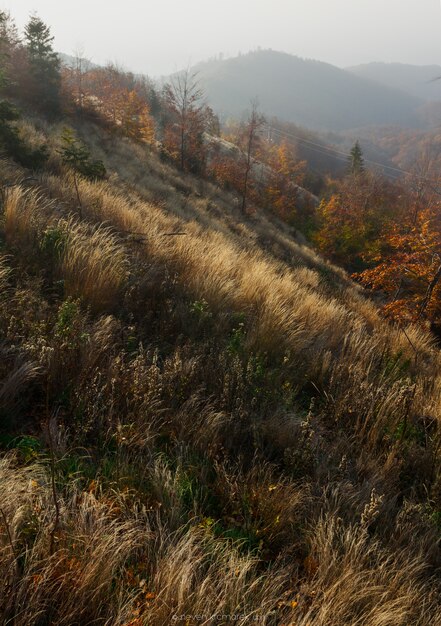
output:
<svg viewBox="0 0 441 626"><path fill-rule="evenodd" d="M48 117L60 113L60 59L54 52L50 29L33 15L25 28L30 70L30 102Z"/></svg>

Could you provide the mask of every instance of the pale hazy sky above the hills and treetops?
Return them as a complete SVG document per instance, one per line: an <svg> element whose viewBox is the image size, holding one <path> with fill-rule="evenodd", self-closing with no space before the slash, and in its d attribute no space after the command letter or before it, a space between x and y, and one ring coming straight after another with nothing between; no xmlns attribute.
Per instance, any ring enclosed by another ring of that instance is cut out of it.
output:
<svg viewBox="0 0 441 626"><path fill-rule="evenodd" d="M440 0L0 0L36 11L61 52L152 76L258 46L339 66L441 64Z"/></svg>

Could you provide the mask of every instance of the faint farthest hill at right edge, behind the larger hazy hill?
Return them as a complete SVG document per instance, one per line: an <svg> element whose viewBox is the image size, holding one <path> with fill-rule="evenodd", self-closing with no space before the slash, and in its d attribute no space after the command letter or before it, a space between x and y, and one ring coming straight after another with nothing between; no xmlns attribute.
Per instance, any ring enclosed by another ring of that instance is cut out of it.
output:
<svg viewBox="0 0 441 626"><path fill-rule="evenodd" d="M346 68L348 72L400 89L424 100L441 100L440 65L407 65L405 63L366 63Z"/></svg>

